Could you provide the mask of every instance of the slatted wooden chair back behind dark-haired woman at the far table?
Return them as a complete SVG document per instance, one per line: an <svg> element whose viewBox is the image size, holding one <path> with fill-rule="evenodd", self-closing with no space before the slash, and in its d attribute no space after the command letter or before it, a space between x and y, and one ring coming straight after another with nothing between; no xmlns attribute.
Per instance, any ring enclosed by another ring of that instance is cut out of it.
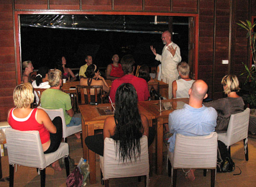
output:
<svg viewBox="0 0 256 187"><path fill-rule="evenodd" d="M98 89L100 88L100 98L101 98L101 102L102 101L102 95L103 95L103 86L102 85L98 85L98 86L76 86L76 103L77 106L79 105L86 105L86 104L90 104L91 103L91 91L92 89L94 89L94 95L95 95L95 103L98 103ZM88 103L86 103L85 99L84 99L84 89L86 89L87 91L87 98L88 98Z"/></svg>

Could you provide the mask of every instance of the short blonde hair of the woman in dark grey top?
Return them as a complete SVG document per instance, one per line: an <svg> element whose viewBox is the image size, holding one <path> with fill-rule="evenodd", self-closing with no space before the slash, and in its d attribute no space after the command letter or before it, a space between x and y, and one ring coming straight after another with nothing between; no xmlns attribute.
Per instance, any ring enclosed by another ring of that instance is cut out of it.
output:
<svg viewBox="0 0 256 187"><path fill-rule="evenodd" d="M230 92L239 92L240 88L239 88L239 81L238 81L238 77L235 75L225 75L222 78L221 81L222 85L227 85L227 88L224 90L225 94L229 94Z"/></svg>

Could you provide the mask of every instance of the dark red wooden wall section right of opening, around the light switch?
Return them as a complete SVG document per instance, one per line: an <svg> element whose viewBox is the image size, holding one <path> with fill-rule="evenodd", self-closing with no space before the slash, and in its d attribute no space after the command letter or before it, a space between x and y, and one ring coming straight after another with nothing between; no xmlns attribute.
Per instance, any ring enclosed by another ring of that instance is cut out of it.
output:
<svg viewBox="0 0 256 187"><path fill-rule="evenodd" d="M248 62L246 31L239 29L236 22L249 19L249 3L200 0L198 78L209 85L212 99L223 97L222 77L240 76L242 62ZM222 60L229 60L229 64L222 64Z"/></svg>

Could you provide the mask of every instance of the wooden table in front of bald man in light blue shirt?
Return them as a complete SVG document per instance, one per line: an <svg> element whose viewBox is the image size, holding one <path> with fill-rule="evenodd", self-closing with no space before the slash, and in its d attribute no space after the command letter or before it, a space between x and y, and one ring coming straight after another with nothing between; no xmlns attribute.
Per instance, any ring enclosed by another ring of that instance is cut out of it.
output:
<svg viewBox="0 0 256 187"><path fill-rule="evenodd" d="M184 102L188 104L188 98L182 98L182 99L170 99L170 100L161 100L162 103L170 103L174 102L173 106L177 104L180 104L180 102ZM170 110L165 110L160 112L159 109L159 101L143 101L139 102L139 106L142 106L145 108L148 112L152 113L155 116L155 119L157 120L157 145L156 145L156 152L157 152L157 174L162 174L163 171L163 124L168 123L168 117L169 113L173 112L176 107L172 107ZM163 107L162 107L163 108Z"/></svg>

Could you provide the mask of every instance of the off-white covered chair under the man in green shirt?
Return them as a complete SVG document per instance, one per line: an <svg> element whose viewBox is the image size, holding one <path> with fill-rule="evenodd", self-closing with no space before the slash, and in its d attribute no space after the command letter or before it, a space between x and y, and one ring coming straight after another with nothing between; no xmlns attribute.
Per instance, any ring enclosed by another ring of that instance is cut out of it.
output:
<svg viewBox="0 0 256 187"><path fill-rule="evenodd" d="M42 108L40 106L38 106L37 108L39 109L43 109L46 111L46 113L48 113L49 117L51 120L53 120L55 117L60 116L61 120L62 120L62 137L64 139L64 142L67 143L68 141L68 136L75 134L77 132L82 131L82 125L77 125L77 126L72 126L72 127L67 127L66 122L65 122L65 116L63 113L63 109L46 109L46 108Z"/></svg>

